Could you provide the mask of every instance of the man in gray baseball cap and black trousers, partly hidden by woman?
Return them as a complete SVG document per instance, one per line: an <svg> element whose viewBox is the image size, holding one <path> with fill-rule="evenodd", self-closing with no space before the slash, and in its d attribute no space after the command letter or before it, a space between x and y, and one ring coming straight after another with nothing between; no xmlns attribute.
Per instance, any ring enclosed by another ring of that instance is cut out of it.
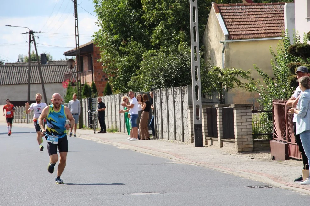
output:
<svg viewBox="0 0 310 206"><path fill-rule="evenodd" d="M307 67L305 66L300 66L297 68L296 70L296 75L297 75L297 79L299 79L300 77L303 76L309 76L309 71L307 69ZM298 99L300 97L300 95L302 94L302 90L297 87L293 96L291 96L291 98L289 100L287 100L286 105L288 107L292 107L292 108L296 108L297 103L298 103ZM302 162L303 162L303 169L308 170L309 169L309 165L308 165L308 157L302 147L302 142L300 140L300 136L296 135L296 122L297 122L297 114L294 114L294 118L293 118L293 126L294 126L294 135L295 135L295 140L296 143L298 145L299 151L302 154ZM297 177L294 182L302 182L302 175L300 177Z"/></svg>

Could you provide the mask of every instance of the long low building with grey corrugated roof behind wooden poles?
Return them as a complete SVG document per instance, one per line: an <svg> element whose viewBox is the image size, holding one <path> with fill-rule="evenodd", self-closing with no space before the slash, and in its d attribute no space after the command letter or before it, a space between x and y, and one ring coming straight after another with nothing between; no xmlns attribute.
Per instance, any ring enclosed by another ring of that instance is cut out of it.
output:
<svg viewBox="0 0 310 206"><path fill-rule="evenodd" d="M42 62L41 59L40 65L48 101L45 103L49 104L55 92L62 96L66 94L67 89L63 88L62 82L64 74L71 69L68 68L67 61ZM37 62L31 62L30 80L30 103L35 103L36 94L43 95ZM28 99L28 62L0 65L0 91L0 105L10 99L14 106L25 106Z"/></svg>

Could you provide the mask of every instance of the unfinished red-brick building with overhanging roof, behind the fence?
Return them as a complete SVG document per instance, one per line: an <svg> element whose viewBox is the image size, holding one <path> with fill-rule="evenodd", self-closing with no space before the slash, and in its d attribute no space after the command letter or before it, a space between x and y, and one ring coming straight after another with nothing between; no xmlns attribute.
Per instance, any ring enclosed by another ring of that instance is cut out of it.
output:
<svg viewBox="0 0 310 206"><path fill-rule="evenodd" d="M76 56L75 49L64 52L65 56ZM97 62L100 59L99 47L96 47L94 41L80 45L80 63L81 63L81 83L91 86L94 81L99 96L103 96L104 88L108 82L108 76L102 71L102 63ZM76 78L76 72L73 75Z"/></svg>

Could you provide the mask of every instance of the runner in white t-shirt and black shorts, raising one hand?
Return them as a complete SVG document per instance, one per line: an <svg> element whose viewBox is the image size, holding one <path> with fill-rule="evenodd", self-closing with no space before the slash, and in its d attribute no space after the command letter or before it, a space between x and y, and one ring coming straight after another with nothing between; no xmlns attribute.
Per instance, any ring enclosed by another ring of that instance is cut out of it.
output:
<svg viewBox="0 0 310 206"><path fill-rule="evenodd" d="M42 95L36 94L36 103L31 104L29 107L29 102L26 103L26 113L30 113L31 110L34 111L33 114L33 124L35 125L36 133L37 133L37 140L39 143L40 151L43 151L43 138L41 137L41 128L39 126L39 123L37 122L38 118L40 117L40 114L42 113L43 109L47 106L46 103L41 102ZM44 120L45 122L45 120Z"/></svg>

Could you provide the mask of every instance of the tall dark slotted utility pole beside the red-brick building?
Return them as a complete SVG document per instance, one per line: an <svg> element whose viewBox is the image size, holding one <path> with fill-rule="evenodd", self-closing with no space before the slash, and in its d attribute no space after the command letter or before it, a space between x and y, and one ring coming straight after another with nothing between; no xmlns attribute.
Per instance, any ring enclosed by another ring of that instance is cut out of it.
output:
<svg viewBox="0 0 310 206"><path fill-rule="evenodd" d="M77 96L82 100L82 87L81 87L81 65L80 65L80 41L79 41L79 26L77 17L77 3L76 0L71 0L74 3L74 23L75 23L75 53L76 53L76 81L77 81ZM81 114L79 117L79 128L83 128L83 105L81 103Z"/></svg>

